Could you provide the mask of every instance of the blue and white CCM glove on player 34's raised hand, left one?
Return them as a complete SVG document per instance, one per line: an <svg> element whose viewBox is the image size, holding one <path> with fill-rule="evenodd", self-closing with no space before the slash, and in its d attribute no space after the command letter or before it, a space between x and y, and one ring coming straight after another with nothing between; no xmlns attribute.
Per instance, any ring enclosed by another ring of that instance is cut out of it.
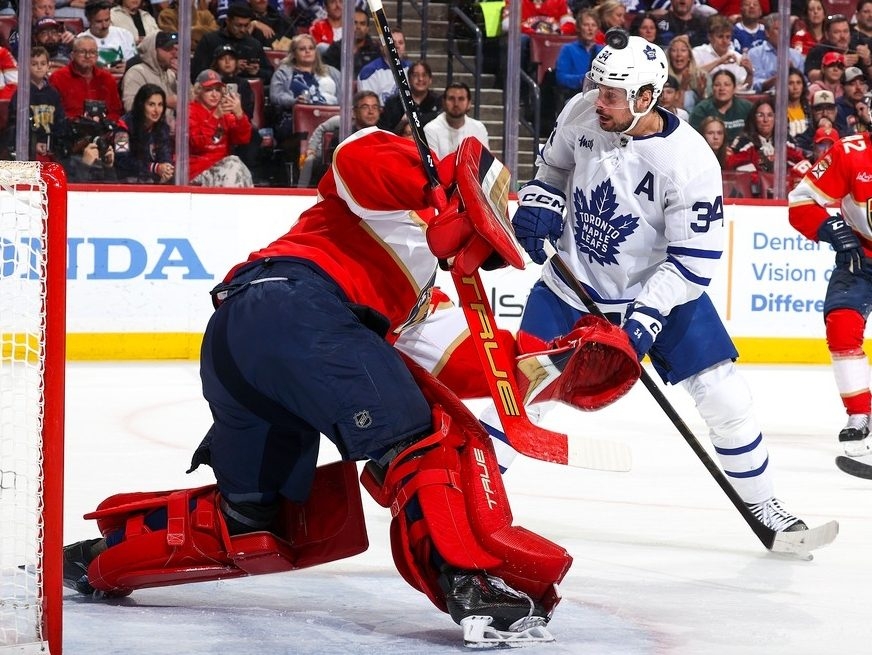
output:
<svg viewBox="0 0 872 655"><path fill-rule="evenodd" d="M518 210L512 217L512 227L521 247L537 264L545 263L545 239L554 243L563 234L565 208L563 193L539 180L528 182L518 192Z"/></svg>

